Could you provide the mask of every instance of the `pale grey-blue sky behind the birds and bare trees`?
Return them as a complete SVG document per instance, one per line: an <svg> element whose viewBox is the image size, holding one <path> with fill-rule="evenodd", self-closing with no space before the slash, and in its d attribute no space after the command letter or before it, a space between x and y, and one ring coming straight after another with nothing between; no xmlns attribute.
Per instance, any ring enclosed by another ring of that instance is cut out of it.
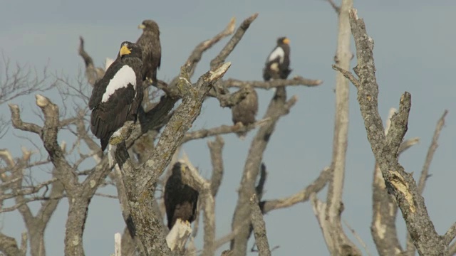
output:
<svg viewBox="0 0 456 256"><path fill-rule="evenodd" d="M455 222L454 161L456 157L456 87L452 84L456 50L456 2L440 1L355 1L358 16L364 18L369 36L375 41L374 58L376 77L380 87L379 111L383 120L390 107L398 107L400 95L412 95L412 109L405 138L420 137L420 144L408 149L400 164L419 177L437 119L448 110L445 127L440 135L437 152L430 166L430 178L423 196L438 233L443 234ZM222 31L230 18L237 25L248 16L259 16L242 41L229 55L231 68L224 78L261 80L261 68L266 56L274 48L276 38L291 40L291 68L293 75L321 79L318 87L292 87L288 95L299 101L289 115L276 126L264 153L268 171L264 199L290 196L314 181L320 171L331 164L333 122L335 108L336 73L332 70L336 52L337 16L323 0L290 1L5 1L0 9L0 50L11 63L19 63L43 70L48 65L52 74L66 75L76 81L83 70L78 56L78 37L86 39L86 50L95 65L103 65L106 57L117 55L120 43L136 41L141 31L138 24L154 19L160 26L162 65L160 80L169 81L179 73L192 49L207 38ZM211 48L198 65L195 76L205 73L209 61L224 46L227 39ZM354 46L352 41L353 53ZM356 58L352 60L356 65ZM3 75L4 65L0 64ZM0 76L0 80L3 79ZM371 238L373 154L368 144L356 90L350 88L350 121L346 178L343 191L343 220L366 242L368 250L376 255ZM56 99L55 91L42 92ZM262 117L272 96L271 91L259 90L259 115ZM12 101L21 107L23 118L41 124L33 97ZM0 114L9 117L6 105ZM217 100L204 102L202 114L192 130L231 124L229 109L219 107ZM0 139L0 148L8 148L19 156L21 146L31 143L18 138L34 135L14 131ZM237 188L242 175L249 144L250 132L241 141L234 135L225 135L224 177L216 198L217 238L231 230L232 214L237 202ZM65 139L66 135L59 135ZM185 144L190 160L201 174L209 177L211 166L207 139ZM453 167L452 167L453 166ZM37 178L48 175L47 169L37 169ZM115 190L106 190L115 193ZM453 191L453 192L452 192ZM318 194L324 200L326 191ZM46 229L46 252L63 255L63 237L68 204L61 202ZM400 216L400 215L399 215ZM1 232L20 240L24 224L17 212L0 215ZM273 255L328 255L321 230L311 204L300 203L291 208L274 210L264 216L271 247L278 247ZM110 255L114 251L114 233L122 232L125 224L116 199L95 197L90 203L84 247L86 255ZM403 220L398 220L402 242L405 237ZM353 235L349 237L360 246ZM196 239L202 246L202 233ZM249 241L252 247L253 240ZM224 245L219 252L229 245ZM363 253L366 252L363 250ZM256 255L249 252L248 255Z"/></svg>

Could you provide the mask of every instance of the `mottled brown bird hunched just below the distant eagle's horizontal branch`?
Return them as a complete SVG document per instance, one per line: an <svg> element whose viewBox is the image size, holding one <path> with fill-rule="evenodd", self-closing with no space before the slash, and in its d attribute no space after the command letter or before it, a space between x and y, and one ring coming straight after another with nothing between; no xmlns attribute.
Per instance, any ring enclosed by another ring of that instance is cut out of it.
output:
<svg viewBox="0 0 456 256"><path fill-rule="evenodd" d="M255 122L258 112L258 95L254 87L248 86L247 90L249 94L231 108L234 125L241 122L242 125L247 126ZM244 139L246 134L247 132L237 132L237 136L241 139Z"/></svg>

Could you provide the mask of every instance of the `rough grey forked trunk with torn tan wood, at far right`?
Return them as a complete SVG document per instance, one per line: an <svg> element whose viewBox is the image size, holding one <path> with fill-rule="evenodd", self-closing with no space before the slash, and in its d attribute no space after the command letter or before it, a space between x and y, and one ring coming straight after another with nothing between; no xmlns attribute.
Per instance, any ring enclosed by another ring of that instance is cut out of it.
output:
<svg viewBox="0 0 456 256"><path fill-rule="evenodd" d="M447 255L447 241L435 231L413 176L405 172L398 163L398 149L407 131L410 93L405 92L400 98L399 112L393 116L390 131L388 136L385 136L378 114L373 40L366 32L363 19L358 18L356 12L356 9L350 11L350 23L358 59L354 70L361 82L358 87L358 102L375 160L380 166L388 193L395 196L410 237L420 255Z"/></svg>

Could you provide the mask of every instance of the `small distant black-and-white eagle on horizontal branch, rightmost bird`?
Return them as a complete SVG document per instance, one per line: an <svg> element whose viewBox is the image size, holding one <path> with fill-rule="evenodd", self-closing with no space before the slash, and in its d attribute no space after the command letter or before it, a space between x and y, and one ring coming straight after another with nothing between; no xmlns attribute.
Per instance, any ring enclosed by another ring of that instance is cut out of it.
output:
<svg viewBox="0 0 456 256"><path fill-rule="evenodd" d="M277 39L277 46L271 51L266 59L266 66L263 69L265 81L272 79L286 79L291 73L290 65L290 40L286 37Z"/></svg>

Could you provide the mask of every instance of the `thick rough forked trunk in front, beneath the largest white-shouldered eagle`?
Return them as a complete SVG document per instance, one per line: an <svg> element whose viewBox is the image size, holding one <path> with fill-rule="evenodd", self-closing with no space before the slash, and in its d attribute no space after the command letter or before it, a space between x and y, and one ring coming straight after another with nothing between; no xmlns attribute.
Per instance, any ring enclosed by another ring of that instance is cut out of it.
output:
<svg viewBox="0 0 456 256"><path fill-rule="evenodd" d="M115 153L130 205L131 222L128 222L130 233L138 235L142 243L142 253L145 255L169 255L170 249L161 232L161 223L155 218L156 213L151 207L154 198L155 183L169 164L177 146L185 132L192 126L201 111L202 102L212 83L227 72L230 63L202 75L195 85L190 84L182 74L177 85L182 92L182 104L177 107L170 121L162 132L149 160L139 169L132 165L125 144L120 144ZM185 70L185 68L182 68Z"/></svg>

